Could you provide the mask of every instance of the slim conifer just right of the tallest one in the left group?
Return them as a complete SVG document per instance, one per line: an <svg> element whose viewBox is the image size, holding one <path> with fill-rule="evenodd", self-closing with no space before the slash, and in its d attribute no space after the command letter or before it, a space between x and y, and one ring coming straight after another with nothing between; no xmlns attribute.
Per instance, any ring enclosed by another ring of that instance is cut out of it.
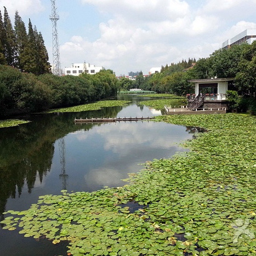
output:
<svg viewBox="0 0 256 256"><path fill-rule="evenodd" d="M15 36L16 36L16 42L17 42L17 51L18 51L18 67L20 71L24 70L24 58L25 58L25 53L24 49L27 45L28 42L28 37L27 37L27 31L26 31L26 26L22 19L19 16L19 13L15 13Z"/></svg>

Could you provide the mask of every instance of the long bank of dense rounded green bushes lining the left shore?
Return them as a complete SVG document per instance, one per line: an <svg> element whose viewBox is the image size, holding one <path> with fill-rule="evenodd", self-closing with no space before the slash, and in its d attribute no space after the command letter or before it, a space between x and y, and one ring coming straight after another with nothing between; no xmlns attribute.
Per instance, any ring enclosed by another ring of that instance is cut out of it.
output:
<svg viewBox="0 0 256 256"><path fill-rule="evenodd" d="M79 77L35 76L0 65L0 115L87 104L115 96L118 86L111 71Z"/></svg>

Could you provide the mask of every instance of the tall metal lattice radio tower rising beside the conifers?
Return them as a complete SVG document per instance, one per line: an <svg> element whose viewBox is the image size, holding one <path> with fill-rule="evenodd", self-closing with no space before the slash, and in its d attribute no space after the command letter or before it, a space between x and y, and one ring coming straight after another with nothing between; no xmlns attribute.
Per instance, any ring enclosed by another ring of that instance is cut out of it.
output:
<svg viewBox="0 0 256 256"><path fill-rule="evenodd" d="M52 2L52 15L50 15L50 20L53 23L53 74L56 76L61 76L60 67L60 51L59 51L59 40L58 40L58 30L57 21L60 19L57 15L55 7L55 0L50 0Z"/></svg>

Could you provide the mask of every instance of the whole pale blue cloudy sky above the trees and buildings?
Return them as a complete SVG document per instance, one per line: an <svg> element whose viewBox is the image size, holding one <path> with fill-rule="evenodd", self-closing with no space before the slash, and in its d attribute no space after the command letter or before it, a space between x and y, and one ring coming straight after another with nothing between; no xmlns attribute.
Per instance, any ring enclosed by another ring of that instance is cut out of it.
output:
<svg viewBox="0 0 256 256"><path fill-rule="evenodd" d="M0 0L43 35L52 64L50 0ZM55 0L61 68L87 63L149 73L189 58L207 58L246 29L256 29L256 0Z"/></svg>

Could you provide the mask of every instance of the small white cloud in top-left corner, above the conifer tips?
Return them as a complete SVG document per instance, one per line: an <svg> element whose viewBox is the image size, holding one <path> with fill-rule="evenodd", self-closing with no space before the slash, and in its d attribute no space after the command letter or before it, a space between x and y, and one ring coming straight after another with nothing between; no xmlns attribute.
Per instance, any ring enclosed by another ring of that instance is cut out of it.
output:
<svg viewBox="0 0 256 256"><path fill-rule="evenodd" d="M2 7L6 7L10 17L14 16L16 11L23 16L37 14L44 10L41 0L0 0L0 7L2 12Z"/></svg>

